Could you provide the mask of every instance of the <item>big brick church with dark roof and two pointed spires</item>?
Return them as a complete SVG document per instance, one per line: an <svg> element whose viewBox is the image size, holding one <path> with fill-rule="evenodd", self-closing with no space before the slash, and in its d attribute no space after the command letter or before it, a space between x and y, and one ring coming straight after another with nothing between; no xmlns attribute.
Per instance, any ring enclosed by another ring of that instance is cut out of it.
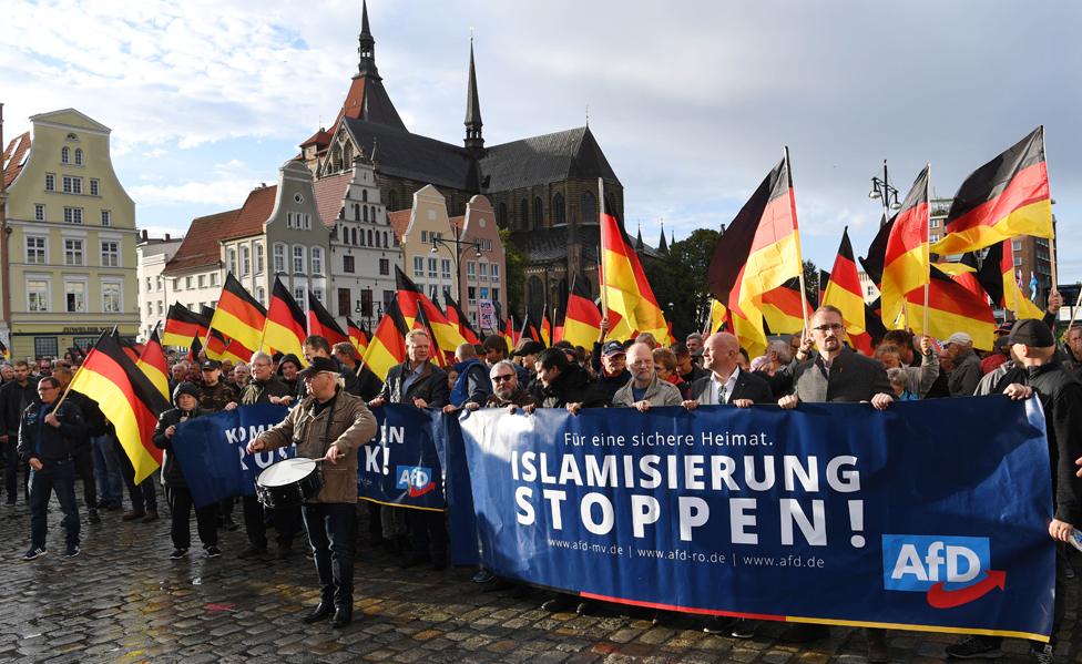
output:
<svg viewBox="0 0 1082 664"><path fill-rule="evenodd" d="M484 144L473 47L470 45L461 144L411 133L395 109L376 67L376 40L361 6L357 73L329 131L320 127L300 144L300 160L315 178L336 176L363 157L375 165L376 185L388 212L407 210L414 194L433 185L448 214L461 215L471 196L492 203L497 224L525 256L522 302L540 318L561 305L574 277L598 292L598 178L609 210L623 218L623 185L589 126L501 145ZM647 255L654 251L643 245ZM517 311L521 313L521 311Z"/></svg>

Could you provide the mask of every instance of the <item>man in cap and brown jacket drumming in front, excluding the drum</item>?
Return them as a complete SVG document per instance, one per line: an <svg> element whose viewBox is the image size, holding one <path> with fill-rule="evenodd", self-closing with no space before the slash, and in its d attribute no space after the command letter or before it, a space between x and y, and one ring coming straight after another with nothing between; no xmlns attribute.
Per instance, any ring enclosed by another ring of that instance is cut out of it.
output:
<svg viewBox="0 0 1082 664"><path fill-rule="evenodd" d="M248 443L248 452L297 446L298 457L324 459L323 489L302 508L319 575L319 604L306 623L329 617L333 627L353 620L357 524L357 449L372 439L376 418L365 402L341 389L338 365L315 357L300 372L308 396L278 426Z"/></svg>

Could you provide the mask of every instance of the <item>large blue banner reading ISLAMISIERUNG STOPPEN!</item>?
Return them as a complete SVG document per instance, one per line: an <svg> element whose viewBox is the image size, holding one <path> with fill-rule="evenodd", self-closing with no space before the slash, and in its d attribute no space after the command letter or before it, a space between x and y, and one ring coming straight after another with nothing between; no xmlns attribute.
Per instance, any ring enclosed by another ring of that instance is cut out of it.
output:
<svg viewBox="0 0 1082 664"><path fill-rule="evenodd" d="M468 472L452 468L448 500L472 501L477 530L452 529L455 551L479 540L499 576L761 620L1051 631L1035 399L480 410L460 423Z"/></svg>

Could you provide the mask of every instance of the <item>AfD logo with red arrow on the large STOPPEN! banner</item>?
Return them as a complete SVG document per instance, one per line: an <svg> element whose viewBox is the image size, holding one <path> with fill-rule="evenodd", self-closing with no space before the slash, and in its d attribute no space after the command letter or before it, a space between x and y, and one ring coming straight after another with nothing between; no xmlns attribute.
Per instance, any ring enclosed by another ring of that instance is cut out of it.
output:
<svg viewBox="0 0 1082 664"><path fill-rule="evenodd" d="M1007 573L991 570L988 538L882 535L882 585L922 592L928 604L951 609L1007 586Z"/></svg>

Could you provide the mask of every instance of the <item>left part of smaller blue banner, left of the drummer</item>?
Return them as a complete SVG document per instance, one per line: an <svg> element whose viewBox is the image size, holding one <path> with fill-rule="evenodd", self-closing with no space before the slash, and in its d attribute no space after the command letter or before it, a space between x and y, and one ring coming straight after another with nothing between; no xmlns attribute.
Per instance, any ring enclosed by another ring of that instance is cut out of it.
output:
<svg viewBox="0 0 1082 664"><path fill-rule="evenodd" d="M245 450L248 442L284 420L287 412L285 406L241 406L176 427L173 451L196 507L234 496L254 496L259 473L294 456L293 446L255 454Z"/></svg>

